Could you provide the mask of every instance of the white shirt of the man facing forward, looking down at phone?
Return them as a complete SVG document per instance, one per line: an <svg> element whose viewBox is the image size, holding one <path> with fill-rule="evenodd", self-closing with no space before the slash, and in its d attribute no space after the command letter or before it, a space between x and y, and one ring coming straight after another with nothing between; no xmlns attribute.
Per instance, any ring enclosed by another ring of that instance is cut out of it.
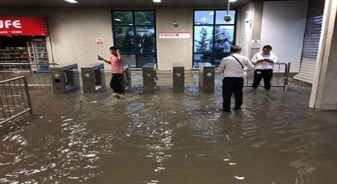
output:
<svg viewBox="0 0 337 184"><path fill-rule="evenodd" d="M260 59L270 59L274 61L274 63L270 63L267 61L256 63L257 60L260 60ZM255 64L255 68L259 70L273 69L273 65L278 63L277 56L273 52L270 52L267 55L263 54L263 52L255 53L251 61L253 64Z"/></svg>

